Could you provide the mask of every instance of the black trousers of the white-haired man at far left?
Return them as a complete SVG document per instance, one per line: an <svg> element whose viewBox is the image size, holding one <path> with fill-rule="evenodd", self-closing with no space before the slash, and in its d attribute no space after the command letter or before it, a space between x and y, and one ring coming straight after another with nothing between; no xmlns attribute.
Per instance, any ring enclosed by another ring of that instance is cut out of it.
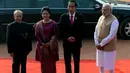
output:
<svg viewBox="0 0 130 73"><path fill-rule="evenodd" d="M21 65L21 73L26 73L26 61L27 61L27 55L14 53L12 73L20 73L20 65Z"/></svg>

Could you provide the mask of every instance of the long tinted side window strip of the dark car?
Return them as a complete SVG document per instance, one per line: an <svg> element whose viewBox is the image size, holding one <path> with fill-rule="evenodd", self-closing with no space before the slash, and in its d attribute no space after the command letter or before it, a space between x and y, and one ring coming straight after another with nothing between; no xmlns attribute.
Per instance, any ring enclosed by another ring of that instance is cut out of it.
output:
<svg viewBox="0 0 130 73"><path fill-rule="evenodd" d="M69 0L0 0L2 8L42 8L49 6L51 8L67 8ZM88 8L93 4L93 0L76 0L78 8Z"/></svg>

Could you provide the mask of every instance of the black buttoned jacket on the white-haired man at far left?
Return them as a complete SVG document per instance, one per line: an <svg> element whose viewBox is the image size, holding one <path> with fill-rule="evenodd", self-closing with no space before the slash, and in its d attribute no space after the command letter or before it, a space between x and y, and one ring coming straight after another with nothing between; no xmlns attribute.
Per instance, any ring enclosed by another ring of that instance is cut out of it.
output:
<svg viewBox="0 0 130 73"><path fill-rule="evenodd" d="M32 50L32 27L25 22L7 26L8 53L27 54Z"/></svg>

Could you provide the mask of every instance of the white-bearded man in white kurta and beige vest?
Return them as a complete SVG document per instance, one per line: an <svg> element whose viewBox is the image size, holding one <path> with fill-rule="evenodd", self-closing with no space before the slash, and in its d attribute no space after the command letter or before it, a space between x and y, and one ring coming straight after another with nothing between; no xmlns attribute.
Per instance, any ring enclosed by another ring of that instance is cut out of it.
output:
<svg viewBox="0 0 130 73"><path fill-rule="evenodd" d="M118 20L112 14L110 4L104 4L102 7L102 16L99 18L94 32L94 40L97 48L96 64L100 73L114 73L116 59L116 42Z"/></svg>

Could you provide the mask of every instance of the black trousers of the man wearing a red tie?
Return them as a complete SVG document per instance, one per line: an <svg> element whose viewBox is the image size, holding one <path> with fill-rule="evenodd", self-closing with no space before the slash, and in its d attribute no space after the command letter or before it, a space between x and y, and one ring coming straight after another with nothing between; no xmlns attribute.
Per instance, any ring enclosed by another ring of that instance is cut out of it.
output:
<svg viewBox="0 0 130 73"><path fill-rule="evenodd" d="M66 73L72 73L71 70L71 55L74 60L74 73L79 73L79 62L80 62L80 47L69 46L64 47L64 61Z"/></svg>

